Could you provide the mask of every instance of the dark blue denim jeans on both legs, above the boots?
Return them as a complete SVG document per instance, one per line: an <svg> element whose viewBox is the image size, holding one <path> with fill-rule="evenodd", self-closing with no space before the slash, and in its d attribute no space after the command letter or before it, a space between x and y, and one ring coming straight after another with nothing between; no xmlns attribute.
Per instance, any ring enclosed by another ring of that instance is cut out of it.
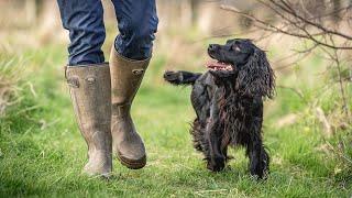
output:
<svg viewBox="0 0 352 198"><path fill-rule="evenodd" d="M118 53L130 59L151 57L157 30L155 0L111 0L120 34ZM101 0L57 0L63 26L69 31L68 65L105 62L101 46L106 38Z"/></svg>

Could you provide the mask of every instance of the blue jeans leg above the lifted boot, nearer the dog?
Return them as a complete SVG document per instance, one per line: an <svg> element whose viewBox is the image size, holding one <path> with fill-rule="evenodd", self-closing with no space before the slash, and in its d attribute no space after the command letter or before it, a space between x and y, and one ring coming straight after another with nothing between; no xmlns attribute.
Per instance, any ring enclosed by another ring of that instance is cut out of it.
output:
<svg viewBox="0 0 352 198"><path fill-rule="evenodd" d="M130 59L146 59L152 56L154 33L157 30L155 0L112 0L120 34L114 47Z"/></svg>

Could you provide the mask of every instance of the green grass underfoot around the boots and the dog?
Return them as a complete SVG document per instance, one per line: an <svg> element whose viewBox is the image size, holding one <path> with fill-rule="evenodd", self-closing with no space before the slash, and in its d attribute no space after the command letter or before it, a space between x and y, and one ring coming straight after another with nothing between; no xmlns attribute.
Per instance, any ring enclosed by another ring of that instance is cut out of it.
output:
<svg viewBox="0 0 352 198"><path fill-rule="evenodd" d="M8 55L2 58L14 58ZM338 165L318 150L323 144L311 118L278 129L275 123L305 103L278 90L265 116L271 176L256 182L248 173L243 150L224 172L206 169L188 133L194 112L189 89L165 85L163 54L157 54L134 101L133 118L147 151L147 165L131 170L114 160L109 180L81 174L86 145L75 119L63 75L63 46L21 57L23 99L0 120L0 197L350 197L351 177L337 176ZM33 85L33 90L31 86ZM278 114L278 116L277 116Z"/></svg>

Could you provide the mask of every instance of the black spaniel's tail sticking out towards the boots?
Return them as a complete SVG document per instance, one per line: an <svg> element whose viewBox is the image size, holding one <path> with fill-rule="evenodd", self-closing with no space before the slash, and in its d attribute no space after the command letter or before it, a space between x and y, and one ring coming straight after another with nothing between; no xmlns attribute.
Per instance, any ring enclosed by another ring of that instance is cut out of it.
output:
<svg viewBox="0 0 352 198"><path fill-rule="evenodd" d="M194 85L195 81L201 76L200 73L189 73L185 70L172 72L167 70L164 74L164 79L173 85Z"/></svg>

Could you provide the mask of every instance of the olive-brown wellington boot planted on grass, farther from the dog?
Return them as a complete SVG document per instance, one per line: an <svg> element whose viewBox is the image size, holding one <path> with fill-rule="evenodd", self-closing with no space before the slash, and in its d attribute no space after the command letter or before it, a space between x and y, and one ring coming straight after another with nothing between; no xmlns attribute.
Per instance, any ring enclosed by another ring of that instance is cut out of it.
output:
<svg viewBox="0 0 352 198"><path fill-rule="evenodd" d="M88 145L88 175L109 176L112 168L111 86L108 64L66 67L79 130Z"/></svg>

